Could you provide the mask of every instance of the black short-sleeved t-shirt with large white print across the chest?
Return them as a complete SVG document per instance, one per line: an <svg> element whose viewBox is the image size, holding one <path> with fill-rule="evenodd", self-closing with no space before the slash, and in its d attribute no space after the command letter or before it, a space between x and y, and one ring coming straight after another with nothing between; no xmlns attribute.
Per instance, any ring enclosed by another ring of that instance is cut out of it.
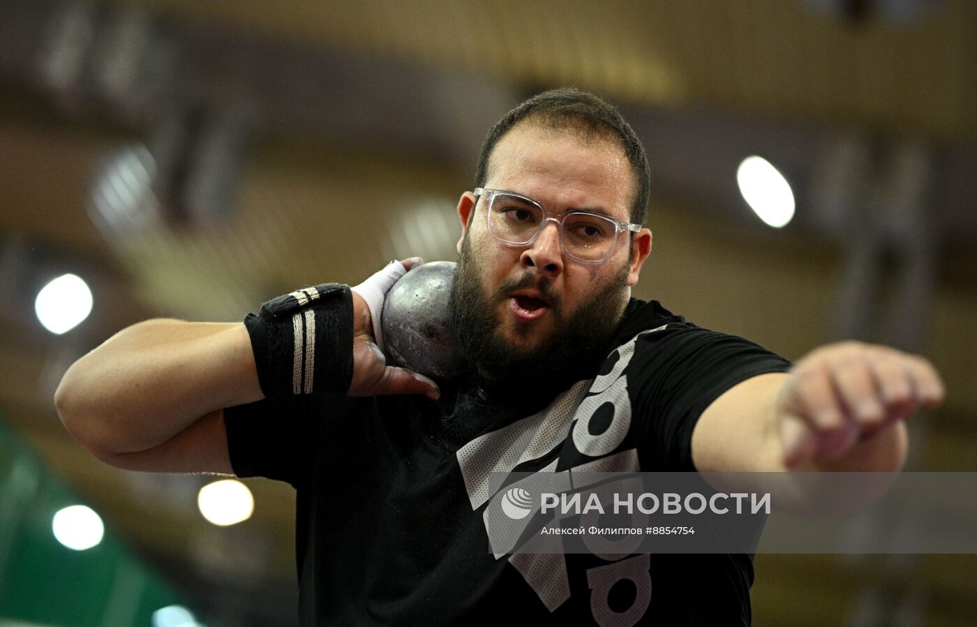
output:
<svg viewBox="0 0 977 627"><path fill-rule="evenodd" d="M499 407L423 396L268 398L225 412L239 476L297 489L301 623L748 625L747 555L492 555L508 471L695 470L692 430L789 363L632 298L596 378ZM460 409L460 411L459 411Z"/></svg>

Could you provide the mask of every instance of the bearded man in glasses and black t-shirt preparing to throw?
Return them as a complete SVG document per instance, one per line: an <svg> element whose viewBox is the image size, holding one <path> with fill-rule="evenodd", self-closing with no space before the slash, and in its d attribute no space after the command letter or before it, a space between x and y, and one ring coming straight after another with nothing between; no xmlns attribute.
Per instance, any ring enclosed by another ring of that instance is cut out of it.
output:
<svg viewBox="0 0 977 627"><path fill-rule="evenodd" d="M68 370L60 415L117 467L292 484L303 625L748 625L746 554L493 555L493 477L898 470L905 419L942 384L924 359L859 342L791 366L631 297L648 196L613 107L539 94L488 133L457 205L451 381L377 346L412 258L243 324L134 325Z"/></svg>

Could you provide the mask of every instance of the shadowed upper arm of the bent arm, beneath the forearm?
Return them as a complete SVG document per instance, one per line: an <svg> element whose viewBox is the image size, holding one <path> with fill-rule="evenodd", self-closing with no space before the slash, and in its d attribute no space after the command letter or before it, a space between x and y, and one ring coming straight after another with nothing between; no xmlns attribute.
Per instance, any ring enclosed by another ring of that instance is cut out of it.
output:
<svg viewBox="0 0 977 627"><path fill-rule="evenodd" d="M162 444L145 451L95 454L106 464L125 470L234 474L223 409L204 415Z"/></svg>

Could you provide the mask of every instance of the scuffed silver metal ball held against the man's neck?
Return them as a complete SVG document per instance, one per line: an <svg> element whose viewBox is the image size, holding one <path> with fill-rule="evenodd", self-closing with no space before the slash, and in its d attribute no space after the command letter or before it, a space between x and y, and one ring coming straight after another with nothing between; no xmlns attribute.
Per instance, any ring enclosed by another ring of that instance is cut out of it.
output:
<svg viewBox="0 0 977 627"><path fill-rule="evenodd" d="M458 371L458 339L451 329L454 262L411 268L387 292L380 314L384 350L404 368L440 379Z"/></svg>

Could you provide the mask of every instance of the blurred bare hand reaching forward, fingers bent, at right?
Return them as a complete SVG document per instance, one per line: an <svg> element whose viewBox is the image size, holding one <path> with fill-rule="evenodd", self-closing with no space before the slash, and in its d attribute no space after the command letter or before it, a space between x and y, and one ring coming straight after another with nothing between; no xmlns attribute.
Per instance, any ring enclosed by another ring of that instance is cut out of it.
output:
<svg viewBox="0 0 977 627"><path fill-rule="evenodd" d="M943 395L940 376L917 355L858 341L818 348L794 365L777 399L784 463L839 460Z"/></svg>

